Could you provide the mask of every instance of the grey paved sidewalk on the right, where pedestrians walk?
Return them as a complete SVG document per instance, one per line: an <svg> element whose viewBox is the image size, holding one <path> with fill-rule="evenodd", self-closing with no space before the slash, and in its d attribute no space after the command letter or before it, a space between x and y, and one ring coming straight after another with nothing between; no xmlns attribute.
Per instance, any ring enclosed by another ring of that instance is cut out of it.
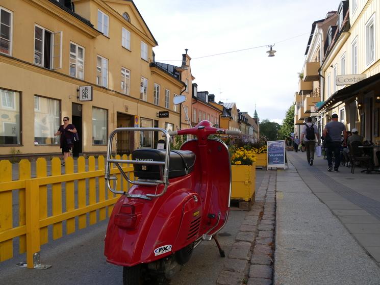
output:
<svg viewBox="0 0 380 285"><path fill-rule="evenodd" d="M274 284L379 284L380 175L289 152L277 170Z"/></svg>

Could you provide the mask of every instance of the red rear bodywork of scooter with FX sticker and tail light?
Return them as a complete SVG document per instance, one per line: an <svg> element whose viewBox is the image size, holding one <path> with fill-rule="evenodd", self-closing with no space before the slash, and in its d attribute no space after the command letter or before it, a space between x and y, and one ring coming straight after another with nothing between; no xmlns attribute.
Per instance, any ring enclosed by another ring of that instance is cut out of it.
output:
<svg viewBox="0 0 380 285"><path fill-rule="evenodd" d="M114 205L105 239L107 261L121 266L150 263L191 244L197 235L178 239L181 225L201 214L191 174L170 179L166 193L151 200L121 196ZM162 189L159 186L157 192ZM130 193L154 193L156 188L133 186ZM126 210L124 210L126 209ZM121 218L120 218L121 217ZM123 217L126 217L124 220ZM190 229L188 228L188 234ZM194 228L193 228L194 231Z"/></svg>

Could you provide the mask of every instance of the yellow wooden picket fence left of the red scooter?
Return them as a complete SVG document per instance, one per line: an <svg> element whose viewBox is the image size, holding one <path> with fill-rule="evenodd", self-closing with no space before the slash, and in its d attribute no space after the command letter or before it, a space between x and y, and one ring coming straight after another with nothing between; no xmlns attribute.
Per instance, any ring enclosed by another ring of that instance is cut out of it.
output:
<svg viewBox="0 0 380 285"><path fill-rule="evenodd" d="M120 156L115 158L120 159ZM61 160L54 158L51 175L47 175L46 160L39 158L36 177L32 178L31 163L21 160L18 180L12 180L12 164L0 161L0 262L13 257L14 239L19 237L19 253L26 252L27 267L33 268L34 254L39 254L40 246L48 242L48 226L52 225L53 240L56 240L63 236L64 221L66 235L69 235L75 231L75 217L78 217L78 229L83 229L88 226L87 215L90 225L110 216L120 195L106 188L104 157L89 157L87 163L85 158L78 158L75 173L74 161L68 158L64 171L61 169ZM132 165L123 166L123 170L134 178ZM117 177L117 190L128 191L129 183L114 165L111 174ZM17 219L18 222L14 221Z"/></svg>

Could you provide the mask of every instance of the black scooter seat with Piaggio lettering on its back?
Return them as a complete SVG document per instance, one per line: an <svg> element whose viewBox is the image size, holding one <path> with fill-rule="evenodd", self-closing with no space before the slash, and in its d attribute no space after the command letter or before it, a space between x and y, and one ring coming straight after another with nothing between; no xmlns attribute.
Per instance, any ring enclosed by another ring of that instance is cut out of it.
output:
<svg viewBox="0 0 380 285"><path fill-rule="evenodd" d="M165 161L165 150L139 148L132 152L132 160ZM171 150L169 158L169 178L180 177L194 169L195 153L190 150ZM143 179L160 179L159 165L134 164L134 175Z"/></svg>

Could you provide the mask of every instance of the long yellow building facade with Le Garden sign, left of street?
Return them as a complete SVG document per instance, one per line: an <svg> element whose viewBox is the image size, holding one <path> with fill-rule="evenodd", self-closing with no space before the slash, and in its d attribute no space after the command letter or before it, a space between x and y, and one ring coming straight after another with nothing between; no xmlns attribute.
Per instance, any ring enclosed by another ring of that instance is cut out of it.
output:
<svg viewBox="0 0 380 285"><path fill-rule="evenodd" d="M0 0L0 158L60 153L54 133L65 116L80 135L74 152L84 154L105 152L116 127L179 126L172 98L185 84L155 65L157 41L135 4L73 0L74 13L64 3ZM157 139L119 136L117 151Z"/></svg>

